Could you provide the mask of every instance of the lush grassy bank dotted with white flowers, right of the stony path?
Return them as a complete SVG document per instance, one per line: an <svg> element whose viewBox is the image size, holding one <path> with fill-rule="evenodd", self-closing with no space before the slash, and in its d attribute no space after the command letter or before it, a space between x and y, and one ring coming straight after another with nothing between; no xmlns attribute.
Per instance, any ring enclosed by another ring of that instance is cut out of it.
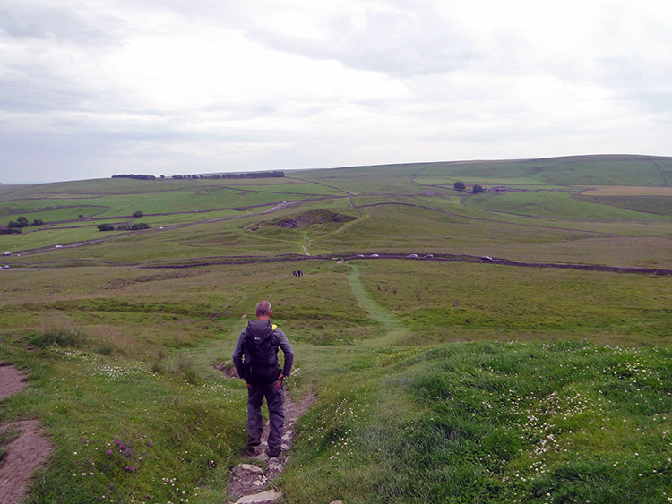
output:
<svg viewBox="0 0 672 504"><path fill-rule="evenodd" d="M585 343L390 352L323 391L283 488L297 502L663 500L670 356Z"/></svg>

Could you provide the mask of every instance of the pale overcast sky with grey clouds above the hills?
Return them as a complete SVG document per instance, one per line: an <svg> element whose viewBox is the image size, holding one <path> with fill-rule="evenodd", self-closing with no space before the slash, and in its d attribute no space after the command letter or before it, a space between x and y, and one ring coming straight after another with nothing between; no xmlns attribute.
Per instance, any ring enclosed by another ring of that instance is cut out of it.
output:
<svg viewBox="0 0 672 504"><path fill-rule="evenodd" d="M2 0L0 182L672 155L668 0Z"/></svg>

